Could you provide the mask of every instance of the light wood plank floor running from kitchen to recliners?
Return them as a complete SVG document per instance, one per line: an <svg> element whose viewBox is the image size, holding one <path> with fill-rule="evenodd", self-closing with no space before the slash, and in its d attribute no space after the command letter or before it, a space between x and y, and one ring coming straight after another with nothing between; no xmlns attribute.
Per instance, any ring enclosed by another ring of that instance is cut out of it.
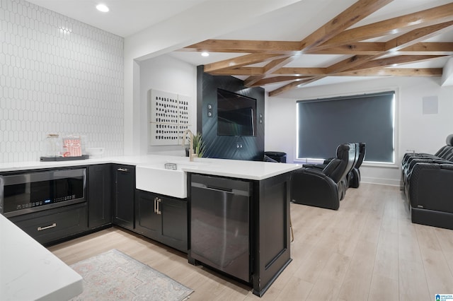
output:
<svg viewBox="0 0 453 301"><path fill-rule="evenodd" d="M348 189L338 211L291 204L292 263L261 300L435 300L453 294L453 230L411 223L398 187ZM67 264L119 249L193 288L190 300L260 300L187 256L120 228L49 249Z"/></svg>

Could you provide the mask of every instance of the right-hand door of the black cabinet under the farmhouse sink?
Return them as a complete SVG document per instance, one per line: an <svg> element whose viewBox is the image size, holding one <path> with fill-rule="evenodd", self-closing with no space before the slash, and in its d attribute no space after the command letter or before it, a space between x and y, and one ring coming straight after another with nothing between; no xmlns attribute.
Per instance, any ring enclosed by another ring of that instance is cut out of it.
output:
<svg viewBox="0 0 453 301"><path fill-rule="evenodd" d="M185 199L173 199L163 196L161 197L159 209L162 218L161 242L180 251L187 252L187 201Z"/></svg>

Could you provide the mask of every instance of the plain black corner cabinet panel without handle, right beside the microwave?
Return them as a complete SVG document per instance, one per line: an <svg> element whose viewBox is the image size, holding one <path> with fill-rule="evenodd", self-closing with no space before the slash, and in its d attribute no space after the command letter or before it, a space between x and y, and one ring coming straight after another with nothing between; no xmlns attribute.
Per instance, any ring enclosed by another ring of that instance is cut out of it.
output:
<svg viewBox="0 0 453 301"><path fill-rule="evenodd" d="M112 172L110 164L88 166L88 228L112 222Z"/></svg>

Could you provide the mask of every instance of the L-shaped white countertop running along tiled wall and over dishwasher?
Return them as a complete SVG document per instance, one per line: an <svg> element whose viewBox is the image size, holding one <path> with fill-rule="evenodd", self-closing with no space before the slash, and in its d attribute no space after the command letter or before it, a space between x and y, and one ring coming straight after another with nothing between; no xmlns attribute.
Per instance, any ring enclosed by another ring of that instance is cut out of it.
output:
<svg viewBox="0 0 453 301"><path fill-rule="evenodd" d="M88 160L69 160L57 162L20 162L20 163L1 163L0 172L35 170L40 168L52 167L71 167L80 165L93 165L103 163L117 163L126 165L149 165L161 162L184 163L189 162L189 158L176 155L141 155L141 156L119 156L108 158L96 158ZM214 158L195 158L195 162L207 163L203 165L185 166L185 172L197 172L205 175L219 175L224 177L237 177L241 179L261 180L285 172L291 172L302 167L298 164L289 163L268 163L260 161L227 160Z"/></svg>

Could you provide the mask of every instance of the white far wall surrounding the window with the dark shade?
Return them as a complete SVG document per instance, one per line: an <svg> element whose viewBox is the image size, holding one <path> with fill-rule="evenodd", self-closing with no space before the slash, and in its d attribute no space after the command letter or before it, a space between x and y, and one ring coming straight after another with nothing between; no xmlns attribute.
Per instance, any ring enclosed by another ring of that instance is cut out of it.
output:
<svg viewBox="0 0 453 301"><path fill-rule="evenodd" d="M440 78L383 78L339 85L300 89L300 98L268 98L265 149L287 153L287 162L296 158L296 100L396 90L396 167L361 167L362 181L398 185L403 153L435 153L453 133L453 87L441 87ZM423 98L437 97L438 113L423 114Z"/></svg>

